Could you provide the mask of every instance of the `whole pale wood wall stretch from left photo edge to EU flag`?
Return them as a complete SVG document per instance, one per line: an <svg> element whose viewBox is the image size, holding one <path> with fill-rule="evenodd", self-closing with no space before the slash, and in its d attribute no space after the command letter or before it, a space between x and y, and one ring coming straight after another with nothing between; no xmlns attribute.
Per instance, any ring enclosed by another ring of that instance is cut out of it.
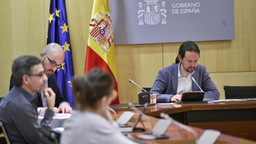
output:
<svg viewBox="0 0 256 144"><path fill-rule="evenodd" d="M36 55L44 48L43 3L1 1L1 91L9 92L11 65L20 55Z"/></svg>

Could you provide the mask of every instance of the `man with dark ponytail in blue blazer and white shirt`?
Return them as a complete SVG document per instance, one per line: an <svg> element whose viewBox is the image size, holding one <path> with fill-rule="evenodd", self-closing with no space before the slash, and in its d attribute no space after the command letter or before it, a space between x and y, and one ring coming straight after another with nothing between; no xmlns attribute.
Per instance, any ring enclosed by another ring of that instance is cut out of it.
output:
<svg viewBox="0 0 256 144"><path fill-rule="evenodd" d="M196 43L187 41L180 46L175 64L158 72L150 90L150 93L157 94L156 102L176 102L181 100L182 92L201 91L191 77L205 92L206 99L220 99L220 93L206 68L197 64L199 57L200 50Z"/></svg>

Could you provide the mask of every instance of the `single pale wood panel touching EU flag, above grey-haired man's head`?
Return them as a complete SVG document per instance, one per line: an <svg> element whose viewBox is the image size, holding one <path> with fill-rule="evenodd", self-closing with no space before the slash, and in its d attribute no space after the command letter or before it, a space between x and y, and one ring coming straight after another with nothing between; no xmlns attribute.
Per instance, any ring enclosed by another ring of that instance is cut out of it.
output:
<svg viewBox="0 0 256 144"><path fill-rule="evenodd" d="M13 59L30 54L39 57L44 48L43 2L12 1Z"/></svg>

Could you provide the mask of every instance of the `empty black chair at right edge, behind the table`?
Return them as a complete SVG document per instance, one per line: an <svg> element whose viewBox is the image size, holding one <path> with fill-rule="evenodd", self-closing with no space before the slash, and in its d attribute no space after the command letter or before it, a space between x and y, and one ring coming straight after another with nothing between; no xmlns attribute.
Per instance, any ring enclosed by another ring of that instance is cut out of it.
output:
<svg viewBox="0 0 256 144"><path fill-rule="evenodd" d="M225 99L255 99L256 86L223 86Z"/></svg>

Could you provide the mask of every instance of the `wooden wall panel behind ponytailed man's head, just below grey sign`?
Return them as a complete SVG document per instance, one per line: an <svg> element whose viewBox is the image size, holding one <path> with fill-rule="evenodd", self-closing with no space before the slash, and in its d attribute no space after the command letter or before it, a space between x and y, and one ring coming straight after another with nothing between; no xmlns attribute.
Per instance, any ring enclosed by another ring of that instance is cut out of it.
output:
<svg viewBox="0 0 256 144"><path fill-rule="evenodd" d="M255 29L256 30L256 29ZM249 47L241 49L233 41L195 42L200 50L198 64L207 68L209 73L250 71ZM163 46L164 68L172 65L182 43L166 43Z"/></svg>

